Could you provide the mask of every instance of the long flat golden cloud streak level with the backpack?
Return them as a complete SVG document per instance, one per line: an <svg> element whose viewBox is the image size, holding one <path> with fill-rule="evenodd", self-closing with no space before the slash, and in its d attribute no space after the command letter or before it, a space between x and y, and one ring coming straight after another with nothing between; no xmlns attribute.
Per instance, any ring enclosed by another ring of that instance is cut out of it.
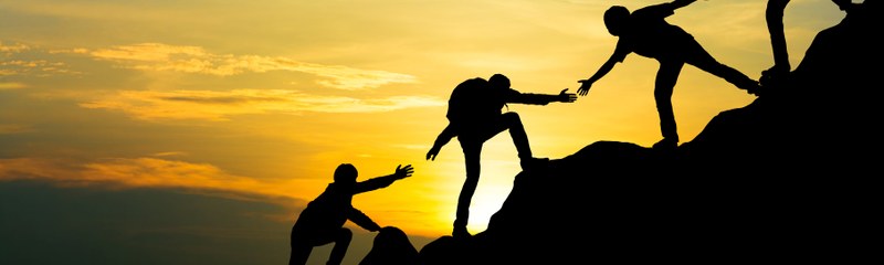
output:
<svg viewBox="0 0 884 265"><path fill-rule="evenodd" d="M234 89L123 91L80 105L85 108L124 112L147 120L227 120L230 116L245 114L378 113L444 104L439 98L419 96L359 99L285 89Z"/></svg>

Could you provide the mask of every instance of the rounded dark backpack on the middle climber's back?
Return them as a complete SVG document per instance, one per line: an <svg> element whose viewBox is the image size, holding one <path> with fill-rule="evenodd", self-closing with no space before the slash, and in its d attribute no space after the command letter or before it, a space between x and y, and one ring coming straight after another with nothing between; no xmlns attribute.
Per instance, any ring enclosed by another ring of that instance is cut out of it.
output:
<svg viewBox="0 0 884 265"><path fill-rule="evenodd" d="M449 97L445 117L452 124L474 124L501 114L502 102L495 98L488 82L482 77L470 78L457 84Z"/></svg>

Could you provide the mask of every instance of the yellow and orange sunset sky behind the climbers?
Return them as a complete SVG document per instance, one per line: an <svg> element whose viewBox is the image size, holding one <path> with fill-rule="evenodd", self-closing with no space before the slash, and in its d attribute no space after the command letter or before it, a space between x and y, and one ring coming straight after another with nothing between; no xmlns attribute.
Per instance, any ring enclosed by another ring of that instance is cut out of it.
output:
<svg viewBox="0 0 884 265"><path fill-rule="evenodd" d="M456 140L424 159L451 89L502 73L524 93L577 92L617 42L604 10L661 2L0 0L0 264L283 264L297 214L345 162L359 180L414 167L354 205L420 250L451 233L464 180ZM765 4L697 1L667 21L758 78L772 65ZM792 66L843 17L792 0ZM656 67L632 54L575 103L508 110L538 157L650 147ZM672 98L682 141L755 98L685 66ZM482 167L473 233L520 170L508 134L486 142ZM346 225L356 264L375 234Z"/></svg>

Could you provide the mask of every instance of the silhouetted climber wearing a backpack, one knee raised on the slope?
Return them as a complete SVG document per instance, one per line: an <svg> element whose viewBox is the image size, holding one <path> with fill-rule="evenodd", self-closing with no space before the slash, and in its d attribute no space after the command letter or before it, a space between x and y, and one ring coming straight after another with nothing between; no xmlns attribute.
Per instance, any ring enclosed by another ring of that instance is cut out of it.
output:
<svg viewBox="0 0 884 265"><path fill-rule="evenodd" d="M509 87L509 78L503 74L494 74L487 82L481 77L471 78L454 88L449 99L446 115L449 125L439 134L433 147L427 152L428 160L435 160L439 151L452 138L457 137L457 141L461 142L466 180L457 198L453 236L470 236L466 231L470 203L478 184L480 157L485 141L508 129L524 170L548 160L532 155L528 136L518 114L503 113L502 108L507 103L547 105L551 102L575 102L577 95L566 93L567 91L568 88L565 88L558 95L520 93Z"/></svg>

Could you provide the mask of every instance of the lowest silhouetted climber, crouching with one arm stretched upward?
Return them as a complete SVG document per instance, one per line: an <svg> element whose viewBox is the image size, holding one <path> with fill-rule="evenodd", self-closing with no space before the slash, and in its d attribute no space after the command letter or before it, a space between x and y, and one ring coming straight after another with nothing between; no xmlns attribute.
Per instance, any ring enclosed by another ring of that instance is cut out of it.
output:
<svg viewBox="0 0 884 265"><path fill-rule="evenodd" d="M352 239L352 232L344 227L347 220L371 232L381 229L368 215L352 206L352 195L386 188L397 180L411 177L413 172L411 165L399 165L392 174L356 182L356 167L350 163L338 166L335 169L335 182L329 183L319 197L307 204L292 227L292 256L288 264L305 264L314 246L328 243L335 243L335 246L326 264L340 264Z"/></svg>

